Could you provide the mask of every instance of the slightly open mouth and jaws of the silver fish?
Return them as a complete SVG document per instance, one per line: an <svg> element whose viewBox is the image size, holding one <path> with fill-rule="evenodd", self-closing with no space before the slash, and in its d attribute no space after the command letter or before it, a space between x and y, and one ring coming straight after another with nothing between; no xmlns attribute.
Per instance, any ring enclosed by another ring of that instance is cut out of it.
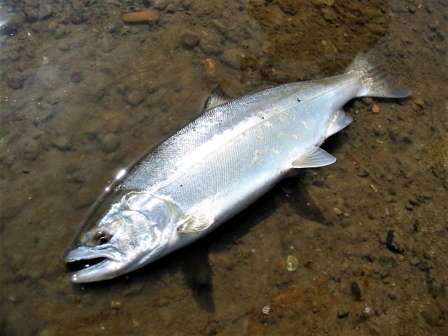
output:
<svg viewBox="0 0 448 336"><path fill-rule="evenodd" d="M126 254L113 246L80 246L67 250L62 260L70 268L83 267L71 276L74 283L111 279L121 274L120 270L125 268L128 261Z"/></svg>

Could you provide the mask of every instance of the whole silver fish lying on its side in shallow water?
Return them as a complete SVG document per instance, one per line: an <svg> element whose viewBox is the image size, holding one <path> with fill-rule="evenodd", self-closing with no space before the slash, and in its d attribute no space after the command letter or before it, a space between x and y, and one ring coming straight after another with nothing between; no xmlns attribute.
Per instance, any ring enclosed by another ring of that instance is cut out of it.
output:
<svg viewBox="0 0 448 336"><path fill-rule="evenodd" d="M411 94L367 58L361 52L339 76L238 99L217 87L199 118L123 171L87 214L62 259L92 265L71 280L106 280L147 265L214 230L290 169L335 162L319 146L351 123L346 102Z"/></svg>

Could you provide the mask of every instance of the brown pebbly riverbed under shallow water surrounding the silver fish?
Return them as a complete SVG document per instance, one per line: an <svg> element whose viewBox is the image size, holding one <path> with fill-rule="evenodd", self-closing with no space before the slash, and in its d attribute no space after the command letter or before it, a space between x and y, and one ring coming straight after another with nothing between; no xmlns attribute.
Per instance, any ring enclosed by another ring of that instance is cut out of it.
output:
<svg viewBox="0 0 448 336"><path fill-rule="evenodd" d="M121 20L141 10L158 20ZM0 333L443 335L447 11L446 0L2 1ZM331 76L360 49L414 94L349 103L353 123L324 145L334 165L282 181L153 265L69 282L60 256L90 204L198 116L216 83L237 96Z"/></svg>

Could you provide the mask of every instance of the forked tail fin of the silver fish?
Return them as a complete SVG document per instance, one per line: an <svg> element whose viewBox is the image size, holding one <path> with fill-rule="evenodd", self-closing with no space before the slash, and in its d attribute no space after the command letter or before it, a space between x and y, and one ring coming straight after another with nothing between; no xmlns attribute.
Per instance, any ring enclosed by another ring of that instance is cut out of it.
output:
<svg viewBox="0 0 448 336"><path fill-rule="evenodd" d="M407 87L397 83L386 75L379 66L368 61L370 52L359 52L346 71L357 71L363 80L363 89L358 97L402 98L412 94Z"/></svg>

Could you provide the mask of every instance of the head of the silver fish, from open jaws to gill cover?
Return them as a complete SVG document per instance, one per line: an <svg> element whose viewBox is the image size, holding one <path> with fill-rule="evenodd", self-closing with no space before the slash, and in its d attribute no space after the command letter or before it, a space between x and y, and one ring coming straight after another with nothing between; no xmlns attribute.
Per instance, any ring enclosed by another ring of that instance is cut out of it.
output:
<svg viewBox="0 0 448 336"><path fill-rule="evenodd" d="M76 283L112 279L160 258L171 234L170 202L139 190L113 190L90 211L69 247L65 262L85 262Z"/></svg>

